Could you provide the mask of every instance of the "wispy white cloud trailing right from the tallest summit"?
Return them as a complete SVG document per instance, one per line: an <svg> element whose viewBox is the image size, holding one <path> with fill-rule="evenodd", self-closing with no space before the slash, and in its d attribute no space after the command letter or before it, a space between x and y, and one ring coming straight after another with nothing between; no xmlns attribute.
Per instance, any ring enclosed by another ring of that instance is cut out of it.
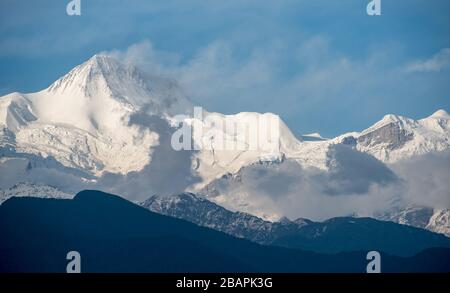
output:
<svg viewBox="0 0 450 293"><path fill-rule="evenodd" d="M269 54L260 50L237 58L231 44L222 40L184 61L177 53L155 49L149 40L109 54L148 73L177 80L194 101L206 107L257 98L258 88L273 84L272 68L276 67Z"/></svg>

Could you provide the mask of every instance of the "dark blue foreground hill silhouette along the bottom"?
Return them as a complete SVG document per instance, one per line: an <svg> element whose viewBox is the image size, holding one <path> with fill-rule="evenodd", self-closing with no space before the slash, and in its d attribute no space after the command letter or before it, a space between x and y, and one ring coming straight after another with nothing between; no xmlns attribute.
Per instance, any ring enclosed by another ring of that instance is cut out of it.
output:
<svg viewBox="0 0 450 293"><path fill-rule="evenodd" d="M0 206L0 271L365 272L366 251L340 254L262 246L150 212L118 196L83 191L73 200L12 198ZM414 257L382 253L383 272L448 272L450 250Z"/></svg>

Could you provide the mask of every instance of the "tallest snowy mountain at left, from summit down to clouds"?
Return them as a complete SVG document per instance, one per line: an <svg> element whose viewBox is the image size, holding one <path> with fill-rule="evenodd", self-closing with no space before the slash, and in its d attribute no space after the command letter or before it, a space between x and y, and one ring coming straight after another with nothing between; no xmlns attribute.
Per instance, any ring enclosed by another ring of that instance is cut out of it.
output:
<svg viewBox="0 0 450 293"><path fill-rule="evenodd" d="M161 116L184 113L189 105L174 82L95 55L43 91L0 98L0 153L27 154L33 162L54 158L95 176L139 171L158 135L131 124L130 117L144 109Z"/></svg>

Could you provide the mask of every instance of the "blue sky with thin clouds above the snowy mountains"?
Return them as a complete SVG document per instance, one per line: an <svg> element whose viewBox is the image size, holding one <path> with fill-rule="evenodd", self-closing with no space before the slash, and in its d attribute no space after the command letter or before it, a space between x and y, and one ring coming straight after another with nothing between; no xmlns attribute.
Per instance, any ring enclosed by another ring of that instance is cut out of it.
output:
<svg viewBox="0 0 450 293"><path fill-rule="evenodd" d="M0 2L0 94L32 92L97 52L177 78L208 110L275 112L334 136L384 114L450 111L450 1Z"/></svg>

